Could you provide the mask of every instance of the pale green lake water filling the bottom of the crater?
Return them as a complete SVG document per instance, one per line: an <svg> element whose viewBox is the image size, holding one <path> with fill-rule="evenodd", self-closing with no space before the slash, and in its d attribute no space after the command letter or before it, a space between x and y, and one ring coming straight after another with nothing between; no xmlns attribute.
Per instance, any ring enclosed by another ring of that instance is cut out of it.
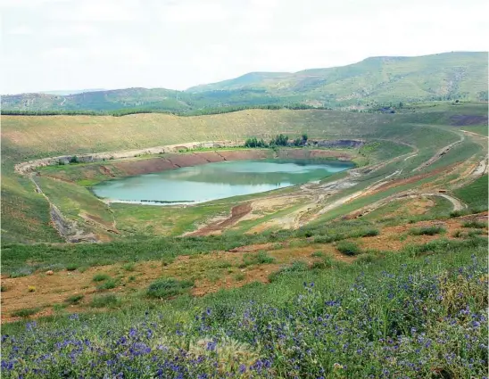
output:
<svg viewBox="0 0 489 379"><path fill-rule="evenodd" d="M115 202L209 202L317 181L353 166L345 161L223 161L112 179L93 191Z"/></svg>

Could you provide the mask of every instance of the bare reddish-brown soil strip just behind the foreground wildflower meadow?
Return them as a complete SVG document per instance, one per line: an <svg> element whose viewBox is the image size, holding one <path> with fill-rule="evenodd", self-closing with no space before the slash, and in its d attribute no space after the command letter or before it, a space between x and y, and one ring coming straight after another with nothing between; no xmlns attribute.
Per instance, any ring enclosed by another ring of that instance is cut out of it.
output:
<svg viewBox="0 0 489 379"><path fill-rule="evenodd" d="M51 276L38 273L17 278L2 278L2 285L6 288L2 293L2 322L19 319L19 317L12 317L12 312L19 309L40 308L42 311L33 317L45 316L52 312L54 304L66 304L66 299L75 294L82 294L84 298L79 305L70 305L67 310L88 310L90 309L88 304L96 294L109 292L127 294L144 291L149 284L160 277L195 278L192 292L195 295L203 295L218 291L220 288L238 287L254 281L266 283L269 274L286 267L294 260L304 260L311 265L316 260L311 257L314 251L324 251L337 260L352 261L352 258L344 257L335 251L330 244L321 244L269 251L269 255L276 259L273 264L238 268L246 253L270 247L270 244L257 244L237 252L217 251L202 255L179 256L166 266L161 261L139 262L134 265L133 271L126 271L122 268L122 264L117 264L87 268L84 272L62 270L54 272ZM106 291L97 290L96 286L99 283L94 282L93 277L98 273L105 273L117 279L118 286ZM212 281L209 277L211 273L218 276L218 280ZM237 280L236 275L239 274L245 278ZM35 287L35 291L29 292L29 286ZM144 296L143 293L141 295Z"/></svg>

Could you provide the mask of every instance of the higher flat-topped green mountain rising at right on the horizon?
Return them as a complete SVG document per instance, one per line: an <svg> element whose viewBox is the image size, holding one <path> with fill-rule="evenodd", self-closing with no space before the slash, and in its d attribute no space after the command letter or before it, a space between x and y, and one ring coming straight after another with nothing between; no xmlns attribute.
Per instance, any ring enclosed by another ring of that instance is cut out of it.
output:
<svg viewBox="0 0 489 379"><path fill-rule="evenodd" d="M372 57L329 69L294 73L257 72L205 86L211 90L259 89L273 96L300 96L326 104L435 99L487 99L487 53L443 53L419 57Z"/></svg>

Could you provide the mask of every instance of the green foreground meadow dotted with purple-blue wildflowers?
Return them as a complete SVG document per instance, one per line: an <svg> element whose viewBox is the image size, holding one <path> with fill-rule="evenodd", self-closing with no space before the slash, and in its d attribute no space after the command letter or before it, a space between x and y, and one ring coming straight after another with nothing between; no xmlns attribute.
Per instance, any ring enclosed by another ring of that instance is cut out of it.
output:
<svg viewBox="0 0 489 379"><path fill-rule="evenodd" d="M482 378L487 243L283 271L203 298L4 325L5 378Z"/></svg>

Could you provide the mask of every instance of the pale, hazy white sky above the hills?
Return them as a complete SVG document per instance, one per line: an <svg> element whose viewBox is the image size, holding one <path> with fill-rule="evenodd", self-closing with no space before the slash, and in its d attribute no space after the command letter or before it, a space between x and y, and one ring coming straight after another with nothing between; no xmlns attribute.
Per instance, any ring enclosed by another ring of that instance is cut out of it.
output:
<svg viewBox="0 0 489 379"><path fill-rule="evenodd" d="M2 94L487 51L487 0L1 0Z"/></svg>

